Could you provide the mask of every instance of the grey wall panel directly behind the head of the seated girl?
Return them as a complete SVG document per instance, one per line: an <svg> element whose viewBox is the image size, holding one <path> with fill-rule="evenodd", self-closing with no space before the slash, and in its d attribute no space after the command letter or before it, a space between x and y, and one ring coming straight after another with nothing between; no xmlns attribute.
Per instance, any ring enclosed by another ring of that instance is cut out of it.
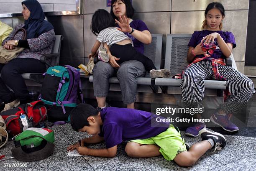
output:
<svg viewBox="0 0 256 171"><path fill-rule="evenodd" d="M203 11L172 12L171 33L193 33L201 30L203 13ZM248 18L248 10L226 11L223 31L231 31L234 34L237 43L237 47L233 50L234 58L236 61L244 61L247 20L239 18Z"/></svg>

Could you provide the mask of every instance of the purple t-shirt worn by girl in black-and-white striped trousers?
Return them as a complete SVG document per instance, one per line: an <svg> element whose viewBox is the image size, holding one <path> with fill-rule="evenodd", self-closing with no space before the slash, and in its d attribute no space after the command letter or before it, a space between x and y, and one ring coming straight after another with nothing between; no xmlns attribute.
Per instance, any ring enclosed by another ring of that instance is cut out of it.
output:
<svg viewBox="0 0 256 171"><path fill-rule="evenodd" d="M233 33L229 31L224 32L224 31L209 31L209 30L195 31L192 34L192 37L187 46L192 46L195 48L201 42L203 37L215 32L219 33L226 43L233 43L233 48L236 47L235 36L233 35ZM225 58L225 56L223 55L222 51L219 48L217 38L215 38L214 44L217 46L217 48L215 49L211 57L215 59L220 57ZM204 55L197 55L196 57L204 57Z"/></svg>

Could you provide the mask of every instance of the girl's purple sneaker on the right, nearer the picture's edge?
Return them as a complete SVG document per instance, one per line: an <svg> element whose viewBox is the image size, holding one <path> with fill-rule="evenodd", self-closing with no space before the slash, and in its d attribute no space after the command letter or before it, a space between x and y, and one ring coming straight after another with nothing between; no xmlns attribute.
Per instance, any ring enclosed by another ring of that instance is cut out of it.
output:
<svg viewBox="0 0 256 171"><path fill-rule="evenodd" d="M234 132L239 130L239 128L230 122L230 120L228 119L228 115L215 115L213 114L210 118L210 120L215 123L216 125L221 126L221 128L223 128L223 130L226 130L228 132Z"/></svg>

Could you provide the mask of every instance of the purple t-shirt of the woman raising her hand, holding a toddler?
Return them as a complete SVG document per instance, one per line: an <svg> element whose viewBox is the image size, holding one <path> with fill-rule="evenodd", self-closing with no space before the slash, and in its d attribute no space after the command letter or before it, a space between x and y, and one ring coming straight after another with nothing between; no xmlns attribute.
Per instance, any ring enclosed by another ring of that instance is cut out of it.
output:
<svg viewBox="0 0 256 171"><path fill-rule="evenodd" d="M142 20L133 20L130 23L130 26L131 26L131 28L134 28L138 31L148 30L148 27ZM135 50L140 52L141 54L143 54L144 53L144 44L141 43L140 41L138 41L136 38L133 37L133 35L131 35L129 33L125 33L125 35L127 35L129 38L131 38L133 40L133 45L134 45L133 47L135 48Z"/></svg>

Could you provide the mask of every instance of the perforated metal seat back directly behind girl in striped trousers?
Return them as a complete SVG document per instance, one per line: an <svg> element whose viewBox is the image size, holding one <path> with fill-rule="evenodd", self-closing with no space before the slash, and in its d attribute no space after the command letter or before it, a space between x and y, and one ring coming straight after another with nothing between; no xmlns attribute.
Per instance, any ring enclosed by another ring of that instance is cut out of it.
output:
<svg viewBox="0 0 256 171"><path fill-rule="evenodd" d="M180 74L188 66L187 44L192 34L167 34L164 68L170 69L171 74Z"/></svg>

